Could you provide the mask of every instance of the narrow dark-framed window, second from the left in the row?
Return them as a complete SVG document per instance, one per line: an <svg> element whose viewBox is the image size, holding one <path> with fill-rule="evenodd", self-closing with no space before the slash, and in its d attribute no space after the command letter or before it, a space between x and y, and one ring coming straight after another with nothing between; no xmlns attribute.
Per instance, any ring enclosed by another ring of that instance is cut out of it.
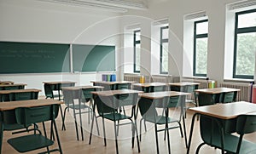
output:
<svg viewBox="0 0 256 154"><path fill-rule="evenodd" d="M160 74L168 73L168 34L169 27L160 27Z"/></svg>

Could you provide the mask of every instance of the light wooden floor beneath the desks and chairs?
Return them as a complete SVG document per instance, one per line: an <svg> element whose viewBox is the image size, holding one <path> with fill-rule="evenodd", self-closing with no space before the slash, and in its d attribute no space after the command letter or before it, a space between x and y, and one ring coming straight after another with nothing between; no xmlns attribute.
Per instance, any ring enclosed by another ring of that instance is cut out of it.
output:
<svg viewBox="0 0 256 154"><path fill-rule="evenodd" d="M62 108L64 109L64 105ZM172 111L172 115L175 117L178 111ZM187 135L189 136L189 129L191 123L191 117L193 113L187 113L186 118L186 127L187 127ZM72 116L72 111L67 112L67 120L66 120L66 131L61 130L61 116L57 117L57 126L58 132L61 138L61 147L63 153L68 154L76 154L76 153L90 153L90 154L113 154L115 153L115 142L113 140L113 123L106 121L107 127L107 146L104 146L103 138L102 138L102 119L98 119L99 128L100 128L100 136L97 135L96 127L94 127L94 135L92 137L92 143L89 145L89 136L90 136L90 126L91 123L88 123L87 114L83 117L83 130L84 130L84 140L81 140L81 135L79 134L80 140L76 139L74 120ZM49 123L48 128L49 128ZM139 125L138 125L139 127ZM143 128L142 141L140 142L141 153L156 153L156 145L155 145L155 137L154 137L154 125L147 124L148 131L145 132ZM80 131L79 131L80 133ZM163 140L163 132L159 133L159 145L160 145L160 153L168 153L167 148L167 140ZM3 134L3 154L15 154L18 153L15 151L8 143L7 140L9 138L18 136L20 134L11 134L10 132L5 131ZM245 136L248 140L252 140L256 142L256 134L250 134ZM188 137L189 138L189 137ZM171 151L174 154L185 154L187 149L185 146L184 138L181 138L180 132L178 128L172 129L170 131L170 139L171 139ZM201 138L199 134L199 123L195 122L195 129L193 134L193 140L191 145L191 150L189 153L195 153L195 149L197 145L201 143ZM56 145L56 142L55 142ZM40 150L41 151L41 150ZM32 151L29 153L38 153L40 151ZM53 152L58 153L58 152ZM131 126L125 125L121 126L119 129L119 153L130 154L130 153L138 153L137 144L135 147L131 148ZM215 154L221 153L219 150L215 150L212 147L204 145L201 148L200 153L207 154Z"/></svg>

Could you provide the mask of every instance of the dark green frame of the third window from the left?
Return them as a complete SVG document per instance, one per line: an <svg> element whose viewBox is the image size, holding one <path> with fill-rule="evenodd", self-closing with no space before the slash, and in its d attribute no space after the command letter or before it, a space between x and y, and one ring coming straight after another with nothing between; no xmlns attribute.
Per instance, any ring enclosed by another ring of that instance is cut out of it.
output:
<svg viewBox="0 0 256 154"><path fill-rule="evenodd" d="M208 33L198 34L196 35L196 26L199 23L208 22L208 20L197 20L194 22L194 54L193 54L193 76L195 77L207 77L207 74L199 74L196 73L196 39L197 38L205 38L208 37Z"/></svg>

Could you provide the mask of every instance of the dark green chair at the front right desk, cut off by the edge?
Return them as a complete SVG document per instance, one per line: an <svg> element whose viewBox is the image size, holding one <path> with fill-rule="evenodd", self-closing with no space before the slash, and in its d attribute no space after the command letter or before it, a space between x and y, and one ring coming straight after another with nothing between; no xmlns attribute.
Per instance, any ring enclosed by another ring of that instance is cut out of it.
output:
<svg viewBox="0 0 256 154"><path fill-rule="evenodd" d="M222 150L222 153L253 154L256 143L243 139L244 134L256 131L256 115L240 115L236 118L236 134L227 132L225 121L214 117L201 116L200 132L203 143L195 153L199 153L202 145L210 145ZM224 131L222 131L224 130Z"/></svg>

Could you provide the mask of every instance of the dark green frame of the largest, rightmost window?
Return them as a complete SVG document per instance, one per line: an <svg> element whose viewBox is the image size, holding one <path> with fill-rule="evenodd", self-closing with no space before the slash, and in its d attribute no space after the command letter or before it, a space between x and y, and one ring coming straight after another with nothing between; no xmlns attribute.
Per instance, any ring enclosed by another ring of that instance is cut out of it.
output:
<svg viewBox="0 0 256 154"><path fill-rule="evenodd" d="M245 11L236 12L235 14L235 36L234 36L234 59L233 59L233 78L253 79L249 75L236 75L236 54L237 54L237 36L242 33L256 32L256 26L238 28L238 16L241 14L256 13L256 9L249 9ZM255 73L255 72L254 72Z"/></svg>

